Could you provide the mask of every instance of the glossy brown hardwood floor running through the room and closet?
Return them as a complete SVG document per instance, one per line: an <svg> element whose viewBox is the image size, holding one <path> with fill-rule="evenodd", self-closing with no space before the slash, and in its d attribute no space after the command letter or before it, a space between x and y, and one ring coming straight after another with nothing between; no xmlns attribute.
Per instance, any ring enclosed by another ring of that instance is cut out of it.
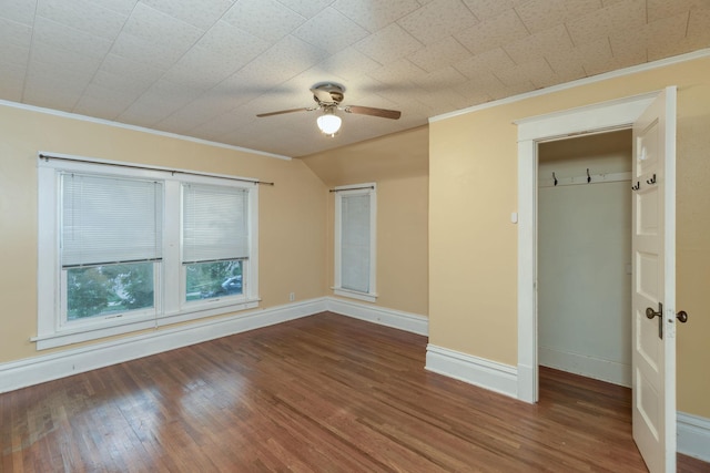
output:
<svg viewBox="0 0 710 473"><path fill-rule="evenodd" d="M0 394L0 471L646 471L628 389L542 369L529 405L426 341L325 312Z"/></svg>

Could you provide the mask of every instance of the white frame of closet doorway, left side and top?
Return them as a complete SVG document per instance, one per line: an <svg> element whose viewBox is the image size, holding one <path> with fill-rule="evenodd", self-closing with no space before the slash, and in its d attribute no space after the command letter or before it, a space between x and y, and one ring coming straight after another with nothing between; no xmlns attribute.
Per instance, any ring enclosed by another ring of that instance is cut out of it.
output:
<svg viewBox="0 0 710 473"><path fill-rule="evenodd" d="M630 128L661 91L514 122L518 126L518 366L517 398L539 399L537 333L537 145Z"/></svg>

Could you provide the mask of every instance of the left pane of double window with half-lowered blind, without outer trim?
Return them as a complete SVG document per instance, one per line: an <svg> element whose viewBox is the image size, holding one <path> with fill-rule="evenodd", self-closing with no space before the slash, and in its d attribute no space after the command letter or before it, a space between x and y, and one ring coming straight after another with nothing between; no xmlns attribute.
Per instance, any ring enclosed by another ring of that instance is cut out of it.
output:
<svg viewBox="0 0 710 473"><path fill-rule="evenodd" d="M60 172L62 320L152 312L162 183Z"/></svg>

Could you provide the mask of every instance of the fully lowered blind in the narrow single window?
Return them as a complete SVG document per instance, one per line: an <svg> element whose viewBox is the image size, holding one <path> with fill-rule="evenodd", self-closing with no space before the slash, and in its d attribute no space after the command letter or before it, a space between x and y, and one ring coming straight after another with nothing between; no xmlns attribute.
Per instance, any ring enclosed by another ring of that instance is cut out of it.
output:
<svg viewBox="0 0 710 473"><path fill-rule="evenodd" d="M369 292L369 195L342 197L341 286Z"/></svg>

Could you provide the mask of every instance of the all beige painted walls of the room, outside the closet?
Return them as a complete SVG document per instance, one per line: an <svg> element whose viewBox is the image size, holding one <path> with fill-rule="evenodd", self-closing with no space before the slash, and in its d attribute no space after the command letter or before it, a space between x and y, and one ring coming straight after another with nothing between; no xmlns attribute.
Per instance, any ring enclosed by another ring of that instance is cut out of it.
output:
<svg viewBox="0 0 710 473"><path fill-rule="evenodd" d="M262 307L329 295L328 187L378 183L377 305L429 316L430 342L517 363L515 120L679 86L678 402L710 418L710 60L610 79L291 162L0 106L0 362L37 354L37 152L274 181L260 191ZM325 185L323 184L325 183ZM428 203L427 203L428 196ZM427 234L428 230L428 234ZM287 238L284 238L287 235ZM323 248L326 248L324 251ZM428 289L428 291L427 291Z"/></svg>

